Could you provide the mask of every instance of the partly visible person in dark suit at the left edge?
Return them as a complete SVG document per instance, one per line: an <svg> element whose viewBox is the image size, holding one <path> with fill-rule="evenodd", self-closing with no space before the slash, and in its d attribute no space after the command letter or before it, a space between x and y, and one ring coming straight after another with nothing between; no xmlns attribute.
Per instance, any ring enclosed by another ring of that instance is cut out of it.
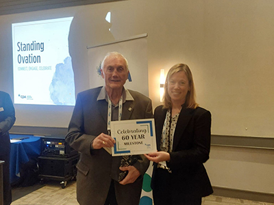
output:
<svg viewBox="0 0 274 205"><path fill-rule="evenodd" d="M12 203L10 188L10 135L9 130L15 122L15 112L10 95L0 91L0 160L3 164L3 203Z"/></svg>

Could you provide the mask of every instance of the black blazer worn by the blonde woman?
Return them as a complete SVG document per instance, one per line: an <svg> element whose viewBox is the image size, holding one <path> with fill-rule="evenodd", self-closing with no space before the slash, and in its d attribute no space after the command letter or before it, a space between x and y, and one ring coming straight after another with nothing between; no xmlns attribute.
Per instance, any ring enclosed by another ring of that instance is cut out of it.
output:
<svg viewBox="0 0 274 205"><path fill-rule="evenodd" d="M160 150L162 128L166 118L166 109L162 105L154 111L157 147ZM203 197L213 193L208 174L203 166L210 153L210 111L197 109L182 109L179 113L173 138L171 160L167 162L171 168L171 184L175 190L174 197L180 195ZM152 189L161 183L156 164L153 167L151 180ZM171 188L171 187L169 187ZM167 187L167 189L169 189ZM173 198L174 198L173 197Z"/></svg>

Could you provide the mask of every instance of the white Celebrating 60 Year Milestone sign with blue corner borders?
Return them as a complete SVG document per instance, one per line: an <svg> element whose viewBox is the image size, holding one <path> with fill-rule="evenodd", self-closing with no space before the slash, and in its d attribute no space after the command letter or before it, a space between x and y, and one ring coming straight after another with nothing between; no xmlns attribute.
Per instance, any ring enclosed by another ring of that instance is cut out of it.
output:
<svg viewBox="0 0 274 205"><path fill-rule="evenodd" d="M156 152L154 119L112 121L112 156Z"/></svg>

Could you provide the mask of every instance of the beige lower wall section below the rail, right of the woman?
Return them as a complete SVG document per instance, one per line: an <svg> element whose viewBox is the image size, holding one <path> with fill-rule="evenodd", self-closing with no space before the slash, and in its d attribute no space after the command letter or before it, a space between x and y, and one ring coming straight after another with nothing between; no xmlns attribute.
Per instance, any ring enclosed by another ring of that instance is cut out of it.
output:
<svg viewBox="0 0 274 205"><path fill-rule="evenodd" d="M212 146L206 169L215 187L274 194L274 150Z"/></svg>

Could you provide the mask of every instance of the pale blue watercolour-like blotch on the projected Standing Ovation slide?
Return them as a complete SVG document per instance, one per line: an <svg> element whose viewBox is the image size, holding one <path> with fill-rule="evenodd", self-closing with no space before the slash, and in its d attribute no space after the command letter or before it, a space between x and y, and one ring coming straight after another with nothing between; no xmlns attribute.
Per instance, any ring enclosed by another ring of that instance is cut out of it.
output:
<svg viewBox="0 0 274 205"><path fill-rule="evenodd" d="M64 64L56 65L49 92L55 105L75 105L74 73L70 56L64 59Z"/></svg>

